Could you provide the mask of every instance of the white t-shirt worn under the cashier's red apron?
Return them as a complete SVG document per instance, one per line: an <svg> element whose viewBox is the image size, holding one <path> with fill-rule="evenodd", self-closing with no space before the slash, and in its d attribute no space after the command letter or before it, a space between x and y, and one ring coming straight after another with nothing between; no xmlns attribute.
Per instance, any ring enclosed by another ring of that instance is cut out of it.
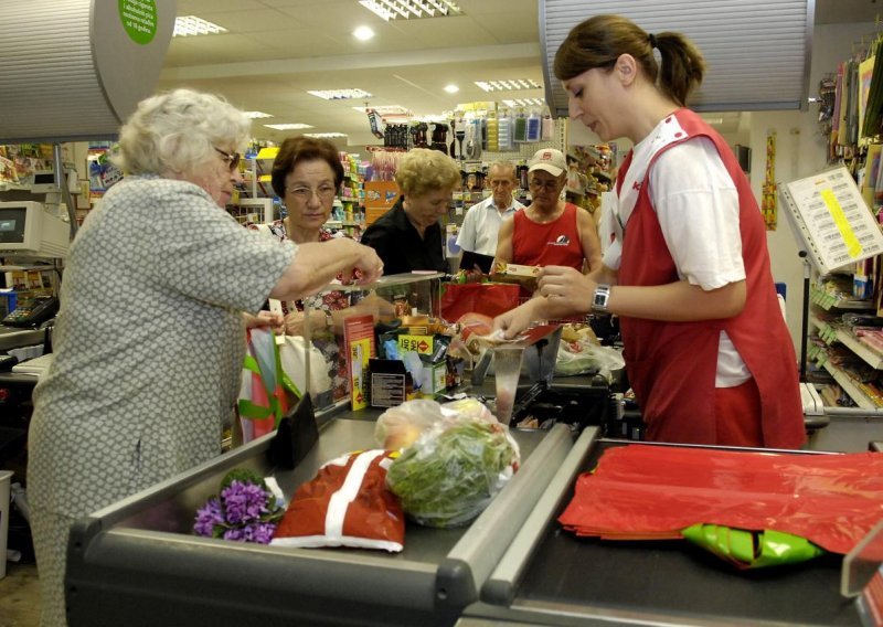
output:
<svg viewBox="0 0 883 627"><path fill-rule="evenodd" d="M650 158L681 130L677 119L661 121L635 146L631 166L623 180L610 220L604 225L614 242L604 254L605 265L619 269L621 240L637 202ZM682 135L681 135L682 137ZM714 144L704 137L683 141L660 155L650 172L650 198L678 276L704 290L745 279L738 230L738 192ZM717 387L740 385L751 379L745 362L726 332L721 332Z"/></svg>

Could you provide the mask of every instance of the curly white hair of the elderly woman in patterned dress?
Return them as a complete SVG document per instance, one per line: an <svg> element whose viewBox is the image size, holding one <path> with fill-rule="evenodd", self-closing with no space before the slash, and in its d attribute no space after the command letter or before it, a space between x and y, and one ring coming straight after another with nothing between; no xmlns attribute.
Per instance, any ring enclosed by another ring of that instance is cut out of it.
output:
<svg viewBox="0 0 883 627"><path fill-rule="evenodd" d="M174 89L138 104L119 130L113 160L129 174L191 174L215 148L243 148L252 120L221 96Z"/></svg>

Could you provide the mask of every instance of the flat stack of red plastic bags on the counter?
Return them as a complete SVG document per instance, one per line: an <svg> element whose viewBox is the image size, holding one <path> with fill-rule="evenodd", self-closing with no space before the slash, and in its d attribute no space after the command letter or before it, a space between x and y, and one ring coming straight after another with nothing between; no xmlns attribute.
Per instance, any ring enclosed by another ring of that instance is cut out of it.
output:
<svg viewBox="0 0 883 627"><path fill-rule="evenodd" d="M883 454L631 445L582 475L558 521L578 535L681 538L708 523L792 533L848 553L883 519Z"/></svg>

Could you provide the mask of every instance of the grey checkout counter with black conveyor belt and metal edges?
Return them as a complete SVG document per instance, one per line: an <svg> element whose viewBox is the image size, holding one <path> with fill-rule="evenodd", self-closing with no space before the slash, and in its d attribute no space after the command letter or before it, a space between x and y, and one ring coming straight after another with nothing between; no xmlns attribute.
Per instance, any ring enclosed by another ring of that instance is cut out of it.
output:
<svg viewBox="0 0 883 627"><path fill-rule="evenodd" d="M566 398L581 389L541 392ZM522 385L519 397L535 393ZM603 398L582 407L593 414L588 422L604 424L513 428L522 466L481 516L457 529L408 522L398 554L193 535L196 509L227 470L273 475L290 497L322 463L373 448L381 411L320 416L318 443L292 470L269 465L273 436L264 436L79 520L68 546L68 624L861 625L855 603L839 594L839 557L737 572L687 542L607 542L562 531L556 519L576 478L604 450L677 446L605 437ZM520 401L515 413L524 410Z"/></svg>

